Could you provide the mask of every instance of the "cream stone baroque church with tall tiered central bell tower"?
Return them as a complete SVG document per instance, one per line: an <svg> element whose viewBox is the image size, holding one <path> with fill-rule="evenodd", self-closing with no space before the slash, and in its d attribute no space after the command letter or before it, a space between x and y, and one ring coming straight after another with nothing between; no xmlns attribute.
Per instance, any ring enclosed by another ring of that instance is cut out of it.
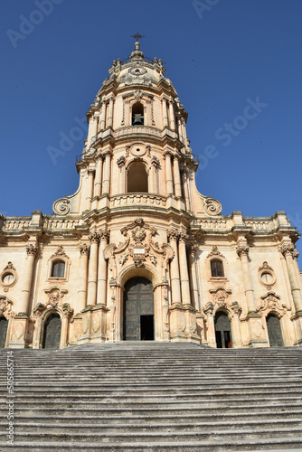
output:
<svg viewBox="0 0 302 452"><path fill-rule="evenodd" d="M302 344L296 228L199 193L187 113L139 42L87 113L79 189L0 216L0 346Z"/></svg>

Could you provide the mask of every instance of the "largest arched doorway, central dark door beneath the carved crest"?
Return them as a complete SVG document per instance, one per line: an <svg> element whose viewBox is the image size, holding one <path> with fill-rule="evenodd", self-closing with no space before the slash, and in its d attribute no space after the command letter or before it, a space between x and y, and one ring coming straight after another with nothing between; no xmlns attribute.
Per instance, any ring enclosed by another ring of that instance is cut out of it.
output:
<svg viewBox="0 0 302 452"><path fill-rule="evenodd" d="M148 279L128 279L123 308L124 341L153 341L154 299L152 283Z"/></svg>

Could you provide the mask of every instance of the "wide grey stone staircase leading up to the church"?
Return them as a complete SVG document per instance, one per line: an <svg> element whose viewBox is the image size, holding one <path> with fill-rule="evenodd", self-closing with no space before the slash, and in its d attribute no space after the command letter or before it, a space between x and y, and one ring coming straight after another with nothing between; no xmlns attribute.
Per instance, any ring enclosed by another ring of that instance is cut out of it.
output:
<svg viewBox="0 0 302 452"><path fill-rule="evenodd" d="M128 342L7 352L0 353L1 452L302 451L299 347Z"/></svg>

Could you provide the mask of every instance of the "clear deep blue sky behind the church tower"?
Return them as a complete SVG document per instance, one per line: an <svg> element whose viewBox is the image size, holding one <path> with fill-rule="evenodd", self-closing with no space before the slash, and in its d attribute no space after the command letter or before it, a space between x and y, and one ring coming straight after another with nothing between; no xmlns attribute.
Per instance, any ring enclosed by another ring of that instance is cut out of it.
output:
<svg viewBox="0 0 302 452"><path fill-rule="evenodd" d="M51 214L77 190L74 127L139 32L189 113L199 191L223 214L285 211L302 232L301 0L1 0L0 12L0 212ZM66 136L54 165L47 148Z"/></svg>

